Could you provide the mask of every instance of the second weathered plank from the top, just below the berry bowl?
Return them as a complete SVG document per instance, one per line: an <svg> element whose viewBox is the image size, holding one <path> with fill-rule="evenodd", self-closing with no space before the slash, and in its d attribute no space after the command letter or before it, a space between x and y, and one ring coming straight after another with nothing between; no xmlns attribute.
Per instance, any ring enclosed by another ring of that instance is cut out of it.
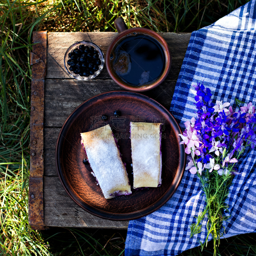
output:
<svg viewBox="0 0 256 256"><path fill-rule="evenodd" d="M176 81L165 80L143 94L169 109ZM72 111L85 100L102 92L121 90L111 79L79 81L76 79L45 80L44 127L61 127Z"/></svg>

